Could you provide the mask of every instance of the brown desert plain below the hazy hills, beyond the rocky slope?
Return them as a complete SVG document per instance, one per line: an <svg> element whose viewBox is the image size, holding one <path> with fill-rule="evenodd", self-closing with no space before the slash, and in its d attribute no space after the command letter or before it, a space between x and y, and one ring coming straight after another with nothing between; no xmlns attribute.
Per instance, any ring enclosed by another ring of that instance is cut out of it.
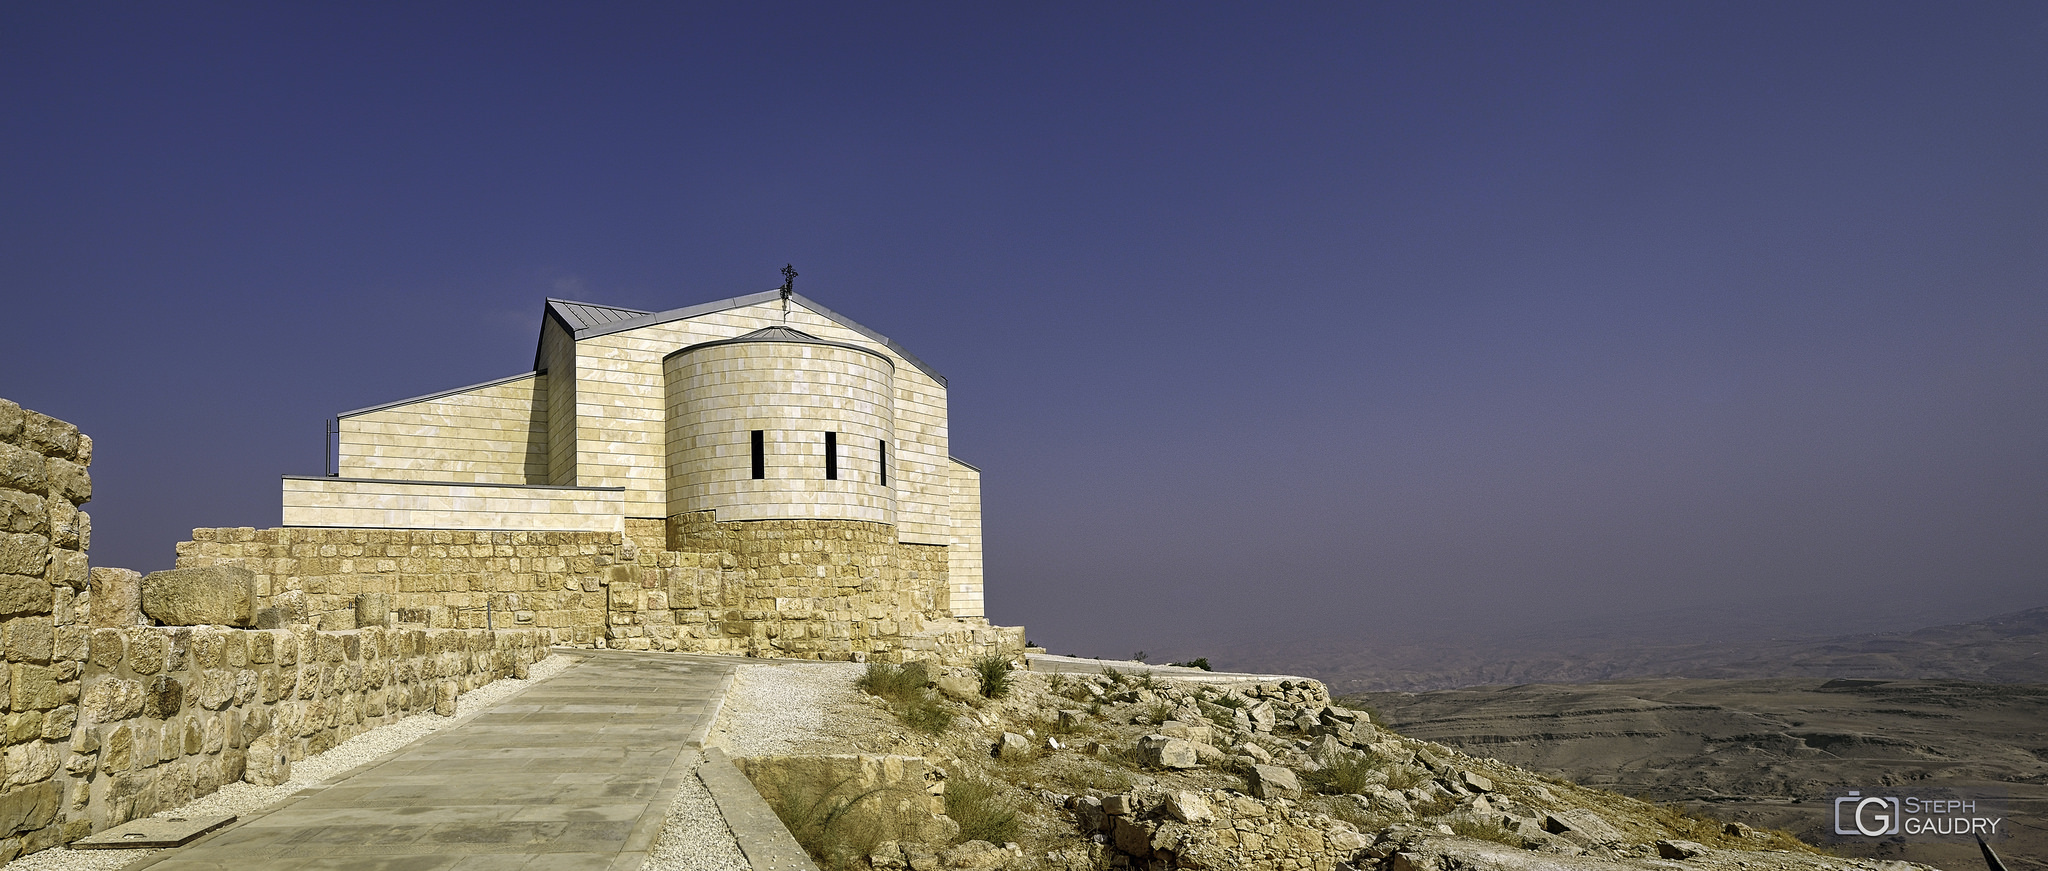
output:
<svg viewBox="0 0 2048 871"><path fill-rule="evenodd" d="M2048 869L2048 687L1962 680L1681 680L1362 693L1401 732L1823 842L1849 789L1993 795L2011 869ZM1833 851L1980 869L1976 844Z"/></svg>

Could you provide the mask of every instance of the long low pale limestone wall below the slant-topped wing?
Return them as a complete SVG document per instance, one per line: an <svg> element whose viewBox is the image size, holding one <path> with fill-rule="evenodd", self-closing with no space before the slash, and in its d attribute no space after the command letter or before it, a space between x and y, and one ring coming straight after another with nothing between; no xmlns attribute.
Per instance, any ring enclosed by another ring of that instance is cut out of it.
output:
<svg viewBox="0 0 2048 871"><path fill-rule="evenodd" d="M586 488L285 478L287 527L616 533L625 494Z"/></svg>

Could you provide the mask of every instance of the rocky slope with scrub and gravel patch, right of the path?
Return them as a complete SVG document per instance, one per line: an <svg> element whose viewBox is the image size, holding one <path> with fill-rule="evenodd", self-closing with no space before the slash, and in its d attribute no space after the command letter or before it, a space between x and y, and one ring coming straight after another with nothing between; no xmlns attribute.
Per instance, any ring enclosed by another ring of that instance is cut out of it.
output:
<svg viewBox="0 0 2048 871"><path fill-rule="evenodd" d="M750 666L723 721L735 754L913 756L915 766L899 764L913 773L930 762L934 799L895 807L944 807L954 816L950 836L834 836L813 816L809 846L829 867L1917 867L1827 857L1782 832L1411 740L1333 705L1315 680L1014 672L1010 691L989 699L973 672L932 668L913 693L885 699L854 689L862 674L860 666ZM774 711L774 699L803 699L793 705L803 713ZM774 738L760 738L768 721ZM821 805L848 810L811 803Z"/></svg>

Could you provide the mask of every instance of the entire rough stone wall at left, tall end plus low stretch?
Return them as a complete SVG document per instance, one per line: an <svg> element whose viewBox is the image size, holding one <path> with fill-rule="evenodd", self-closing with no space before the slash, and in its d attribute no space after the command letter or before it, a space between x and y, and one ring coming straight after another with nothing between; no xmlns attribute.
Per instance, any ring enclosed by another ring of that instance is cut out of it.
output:
<svg viewBox="0 0 2048 871"><path fill-rule="evenodd" d="M88 568L90 463L76 426L0 400L0 863L256 769L274 777L258 756L303 758L406 713L453 713L461 693L547 656L551 633L535 627L319 631L303 592L250 603L272 629L141 625L145 600L193 592L152 584L209 576Z"/></svg>

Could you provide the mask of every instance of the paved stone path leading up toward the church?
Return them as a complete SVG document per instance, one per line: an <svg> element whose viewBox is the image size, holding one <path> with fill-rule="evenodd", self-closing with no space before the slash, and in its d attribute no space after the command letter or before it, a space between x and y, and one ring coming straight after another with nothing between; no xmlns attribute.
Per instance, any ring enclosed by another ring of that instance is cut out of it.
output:
<svg viewBox="0 0 2048 871"><path fill-rule="evenodd" d="M733 666L586 650L473 719L311 787L150 871L633 871Z"/></svg>

